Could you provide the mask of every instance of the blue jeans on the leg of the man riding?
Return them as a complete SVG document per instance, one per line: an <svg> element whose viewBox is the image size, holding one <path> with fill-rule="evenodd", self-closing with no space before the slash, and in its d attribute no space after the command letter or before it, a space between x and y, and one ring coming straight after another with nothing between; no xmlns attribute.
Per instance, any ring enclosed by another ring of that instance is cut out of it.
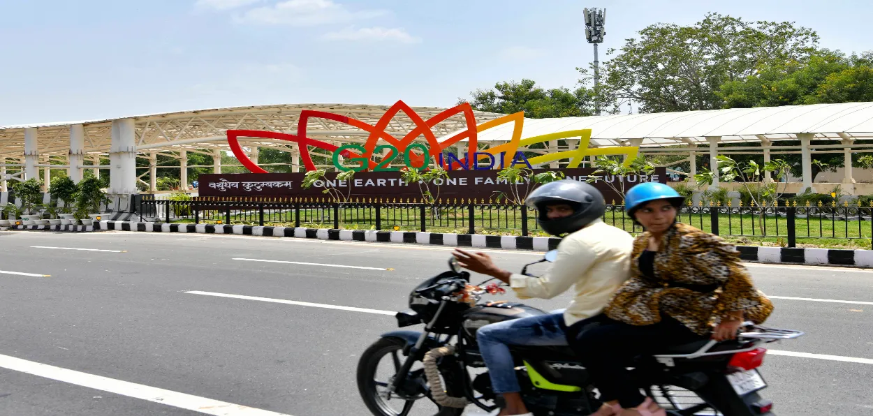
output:
<svg viewBox="0 0 873 416"><path fill-rule="evenodd" d="M491 388L500 394L520 392L515 378L515 364L509 345L560 346L567 345L564 313L552 312L540 317L525 317L512 321L488 324L476 331L479 352L485 358L491 375Z"/></svg>

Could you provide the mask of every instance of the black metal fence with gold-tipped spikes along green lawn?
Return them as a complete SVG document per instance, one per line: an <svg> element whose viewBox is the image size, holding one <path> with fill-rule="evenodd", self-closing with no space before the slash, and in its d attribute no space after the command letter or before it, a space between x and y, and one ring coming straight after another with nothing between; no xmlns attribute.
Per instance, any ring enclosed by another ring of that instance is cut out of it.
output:
<svg viewBox="0 0 873 416"><path fill-rule="evenodd" d="M545 235L536 215L524 205L492 201L416 202L266 199L139 201L141 220L213 224L274 225L306 228L394 229L466 234ZM873 207L684 207L680 221L717 235L773 238L787 247L797 239L873 238ZM643 229L621 205L608 205L603 221L629 233ZM873 243L871 243L873 244Z"/></svg>

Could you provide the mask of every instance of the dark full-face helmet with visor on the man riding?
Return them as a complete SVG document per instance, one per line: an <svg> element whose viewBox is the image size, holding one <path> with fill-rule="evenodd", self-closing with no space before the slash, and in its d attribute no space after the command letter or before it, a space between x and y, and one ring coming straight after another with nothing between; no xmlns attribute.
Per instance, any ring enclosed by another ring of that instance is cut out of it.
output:
<svg viewBox="0 0 873 416"><path fill-rule="evenodd" d="M546 233L572 233L600 218L606 207L603 194L597 188L580 181L554 181L536 188L525 200L528 208L536 209L537 223ZM546 205L565 203L573 207L573 215L554 220L546 217Z"/></svg>

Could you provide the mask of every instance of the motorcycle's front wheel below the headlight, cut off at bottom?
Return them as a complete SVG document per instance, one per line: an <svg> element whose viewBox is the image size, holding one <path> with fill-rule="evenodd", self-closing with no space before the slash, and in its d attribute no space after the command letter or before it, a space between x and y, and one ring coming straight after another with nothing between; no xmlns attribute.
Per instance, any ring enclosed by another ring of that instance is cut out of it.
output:
<svg viewBox="0 0 873 416"><path fill-rule="evenodd" d="M375 416L461 416L464 409L443 407L430 399L430 386L424 378L421 361L409 370L407 383L401 392L388 394L388 383L395 376L405 357L406 341L400 338L382 338L370 345L358 361L358 392ZM443 387L450 396L459 395L459 389L443 378Z"/></svg>

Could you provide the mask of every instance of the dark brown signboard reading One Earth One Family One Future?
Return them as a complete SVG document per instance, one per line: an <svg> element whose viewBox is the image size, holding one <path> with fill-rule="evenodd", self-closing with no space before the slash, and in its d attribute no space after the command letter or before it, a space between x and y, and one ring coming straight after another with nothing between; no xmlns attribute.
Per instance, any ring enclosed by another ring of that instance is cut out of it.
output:
<svg viewBox="0 0 873 416"><path fill-rule="evenodd" d="M547 169L534 169L533 173L546 172ZM594 174L593 168L562 169L567 179L588 181ZM498 170L455 170L450 171L449 179L436 181L430 186L436 194L439 185L439 197L443 199L491 199L501 192L510 194L512 185L498 179ZM201 174L198 178L200 196L280 196L280 197L320 197L324 196L325 187L339 188L342 194L354 197L402 197L421 198L421 192L416 184L402 181L399 172L360 172L351 181L337 181L335 173L328 173L325 181L318 181L312 188L303 188L306 174ZM613 175L596 174L597 180L592 182L600 189L606 201L621 201L622 198L610 188L611 182L618 188L619 181L624 181L624 188L629 189L642 182L667 183L666 168L658 167L655 174L629 175L623 178ZM443 183L440 183L443 182ZM521 190L527 188L526 183L519 183ZM530 188L535 188L531 184Z"/></svg>

